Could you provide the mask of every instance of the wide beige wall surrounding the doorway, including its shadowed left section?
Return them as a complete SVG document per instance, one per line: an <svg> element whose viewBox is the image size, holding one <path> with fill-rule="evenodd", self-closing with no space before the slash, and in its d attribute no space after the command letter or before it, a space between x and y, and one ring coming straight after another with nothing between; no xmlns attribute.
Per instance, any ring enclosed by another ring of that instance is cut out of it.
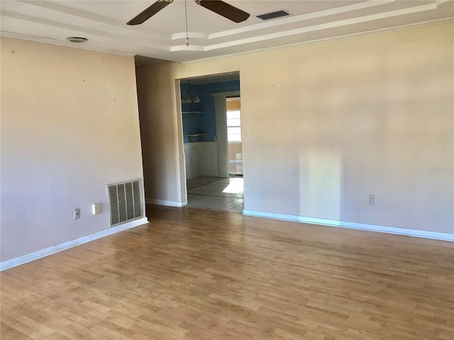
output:
<svg viewBox="0 0 454 340"><path fill-rule="evenodd" d="M245 210L453 232L453 32L138 67L147 195L182 200L174 80L240 71Z"/></svg>

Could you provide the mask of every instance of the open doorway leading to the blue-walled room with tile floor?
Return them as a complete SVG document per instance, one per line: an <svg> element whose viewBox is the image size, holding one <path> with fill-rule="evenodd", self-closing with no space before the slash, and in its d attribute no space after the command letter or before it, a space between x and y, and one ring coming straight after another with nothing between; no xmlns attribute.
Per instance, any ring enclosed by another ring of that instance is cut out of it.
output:
<svg viewBox="0 0 454 340"><path fill-rule="evenodd" d="M239 72L180 79L179 87L187 207L242 213Z"/></svg>

